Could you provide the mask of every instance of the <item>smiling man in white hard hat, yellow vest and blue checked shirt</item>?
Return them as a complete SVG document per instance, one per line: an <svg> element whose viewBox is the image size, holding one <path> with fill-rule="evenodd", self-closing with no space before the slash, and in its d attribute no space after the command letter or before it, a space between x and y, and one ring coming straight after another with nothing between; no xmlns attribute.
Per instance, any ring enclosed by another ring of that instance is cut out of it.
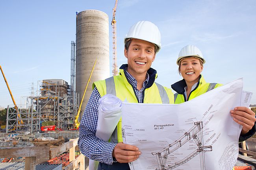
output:
<svg viewBox="0 0 256 170"><path fill-rule="evenodd" d="M80 150L83 155L100 162L98 170L130 170L128 163L136 160L141 154L136 146L122 143L121 120L110 137L110 142L95 136L98 100L102 96L110 93L122 101L127 99L130 103L174 102L171 89L156 83L156 70L150 68L161 48L158 27L149 21L137 22L126 34L124 47L128 64L120 67L118 76L94 82L94 90L79 127Z"/></svg>

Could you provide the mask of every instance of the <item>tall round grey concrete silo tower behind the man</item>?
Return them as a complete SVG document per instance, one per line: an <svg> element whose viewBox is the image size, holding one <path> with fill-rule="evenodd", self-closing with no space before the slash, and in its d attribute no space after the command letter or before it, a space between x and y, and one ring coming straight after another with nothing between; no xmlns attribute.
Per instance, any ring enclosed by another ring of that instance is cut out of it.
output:
<svg viewBox="0 0 256 170"><path fill-rule="evenodd" d="M98 58L83 99L81 120L92 92L92 83L109 77L109 20L106 13L97 10L85 10L76 17L76 92L80 102L95 59Z"/></svg>

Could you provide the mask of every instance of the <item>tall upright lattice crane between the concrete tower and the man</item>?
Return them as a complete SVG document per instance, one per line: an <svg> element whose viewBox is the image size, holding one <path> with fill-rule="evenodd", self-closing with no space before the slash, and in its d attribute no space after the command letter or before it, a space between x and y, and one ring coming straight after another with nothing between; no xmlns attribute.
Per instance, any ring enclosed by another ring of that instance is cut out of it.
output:
<svg viewBox="0 0 256 170"><path fill-rule="evenodd" d="M113 38L113 76L118 75L117 69L117 21L115 20L115 13L117 12L117 3L118 0L115 0L115 7L113 8L113 17L112 17L112 38Z"/></svg>

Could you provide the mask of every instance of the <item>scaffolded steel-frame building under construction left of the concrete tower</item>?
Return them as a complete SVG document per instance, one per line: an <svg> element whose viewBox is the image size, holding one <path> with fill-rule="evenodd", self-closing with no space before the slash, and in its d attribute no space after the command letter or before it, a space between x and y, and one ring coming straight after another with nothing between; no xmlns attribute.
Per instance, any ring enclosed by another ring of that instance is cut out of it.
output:
<svg viewBox="0 0 256 170"><path fill-rule="evenodd" d="M72 128L78 109L78 98L72 96L70 86L61 79L38 81L37 96L27 98L26 105L8 106L6 133L40 131L43 125L54 124L59 129Z"/></svg>

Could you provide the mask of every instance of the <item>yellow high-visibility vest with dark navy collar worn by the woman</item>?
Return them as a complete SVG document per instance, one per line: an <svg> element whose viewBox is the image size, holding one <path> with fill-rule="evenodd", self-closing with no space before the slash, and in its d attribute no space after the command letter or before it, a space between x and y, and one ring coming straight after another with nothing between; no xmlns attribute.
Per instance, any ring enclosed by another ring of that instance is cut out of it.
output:
<svg viewBox="0 0 256 170"><path fill-rule="evenodd" d="M200 75L199 78L199 83L197 84L197 87L192 90L188 96L187 100L191 100L193 98L196 98L197 96L200 96L201 94L204 94L212 89L215 89L217 87L220 87L222 84L219 83L206 83L204 80L203 76ZM184 103L186 100L185 95L184 95L184 87L186 87L186 82L185 80L178 81L171 85L173 90L175 90L177 93L174 94L174 104L180 104Z"/></svg>

